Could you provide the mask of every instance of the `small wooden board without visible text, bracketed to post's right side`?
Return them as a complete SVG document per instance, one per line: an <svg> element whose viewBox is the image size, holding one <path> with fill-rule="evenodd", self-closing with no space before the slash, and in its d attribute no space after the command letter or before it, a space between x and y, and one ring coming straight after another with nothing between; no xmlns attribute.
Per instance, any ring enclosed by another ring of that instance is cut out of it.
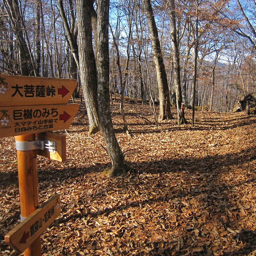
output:
<svg viewBox="0 0 256 256"><path fill-rule="evenodd" d="M42 132L36 134L36 140L50 140L56 143L56 153L50 152L49 150L38 149L37 155L44 156L59 162L66 161L66 135L59 134L56 132Z"/></svg>

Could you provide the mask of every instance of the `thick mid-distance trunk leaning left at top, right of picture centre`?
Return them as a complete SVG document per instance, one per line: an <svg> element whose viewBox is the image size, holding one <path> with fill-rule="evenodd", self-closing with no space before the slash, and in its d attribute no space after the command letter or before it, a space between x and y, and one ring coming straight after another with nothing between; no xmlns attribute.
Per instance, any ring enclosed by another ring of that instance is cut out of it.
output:
<svg viewBox="0 0 256 256"><path fill-rule="evenodd" d="M159 89L159 101L160 101L159 118L160 120L172 119L173 117L170 111L170 96L169 96L167 76L166 76L165 66L163 62L161 45L159 42L154 13L152 10L150 0L142 0L142 3L143 3L145 14L147 17L147 23L148 23L151 43L152 43L152 51L154 56L154 63L156 66L157 82L158 82L158 89Z"/></svg>

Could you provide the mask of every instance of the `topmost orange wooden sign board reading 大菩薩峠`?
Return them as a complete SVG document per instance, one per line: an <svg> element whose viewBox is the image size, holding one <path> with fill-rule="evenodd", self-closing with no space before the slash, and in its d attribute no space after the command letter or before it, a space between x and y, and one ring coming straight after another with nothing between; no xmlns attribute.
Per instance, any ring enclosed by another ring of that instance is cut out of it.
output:
<svg viewBox="0 0 256 256"><path fill-rule="evenodd" d="M0 106L65 104L76 84L75 79L0 74Z"/></svg>

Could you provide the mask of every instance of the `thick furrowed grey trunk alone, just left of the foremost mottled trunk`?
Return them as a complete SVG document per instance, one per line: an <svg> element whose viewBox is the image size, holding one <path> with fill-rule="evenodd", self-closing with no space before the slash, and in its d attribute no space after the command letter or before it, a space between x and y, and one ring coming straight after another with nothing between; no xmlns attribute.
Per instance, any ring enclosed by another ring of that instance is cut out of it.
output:
<svg viewBox="0 0 256 256"><path fill-rule="evenodd" d="M89 10L89 6L92 4L92 0L76 1L80 79L89 119L89 135L100 130L97 115L96 63L92 45L91 12Z"/></svg>

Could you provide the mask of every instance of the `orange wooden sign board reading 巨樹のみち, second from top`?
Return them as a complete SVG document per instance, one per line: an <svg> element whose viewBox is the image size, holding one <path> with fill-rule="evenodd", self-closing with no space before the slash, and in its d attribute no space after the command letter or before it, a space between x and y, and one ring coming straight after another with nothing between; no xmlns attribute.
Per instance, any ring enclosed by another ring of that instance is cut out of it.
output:
<svg viewBox="0 0 256 256"><path fill-rule="evenodd" d="M0 138L67 129L78 104L0 107Z"/></svg>

